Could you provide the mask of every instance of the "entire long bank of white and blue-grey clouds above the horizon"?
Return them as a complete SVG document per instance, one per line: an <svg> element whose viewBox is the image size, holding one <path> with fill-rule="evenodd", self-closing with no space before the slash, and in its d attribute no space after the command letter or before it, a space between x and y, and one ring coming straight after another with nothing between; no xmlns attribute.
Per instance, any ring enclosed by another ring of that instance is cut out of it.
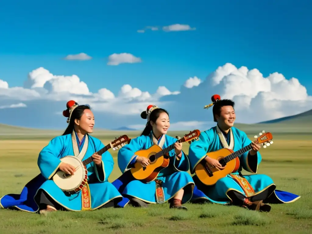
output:
<svg viewBox="0 0 312 234"><path fill-rule="evenodd" d="M116 93L110 87L99 87L99 90L90 92L87 84L77 75L55 75L39 67L29 72L23 87L10 87L7 81L0 80L0 110L15 111L11 115L26 117L27 113L32 113L36 116L22 118L21 124L22 121L39 126L59 124L57 121L64 119L55 113L65 109L68 100L76 100L79 104L91 105L96 115L101 116L101 126L114 129L145 125L139 114L148 105L154 104L169 111L172 130L192 130L215 124L211 123L212 109L203 109L204 105L211 103L213 94L234 100L236 122L242 123L295 115L310 110L312 106L312 97L298 79L286 79L277 72L264 77L257 69L237 68L230 63L219 66L206 79L194 76L183 83L175 90L168 90L159 84L155 93L140 90L131 84L121 85ZM24 108L16 108L18 105ZM10 118L3 121L14 124Z"/></svg>

